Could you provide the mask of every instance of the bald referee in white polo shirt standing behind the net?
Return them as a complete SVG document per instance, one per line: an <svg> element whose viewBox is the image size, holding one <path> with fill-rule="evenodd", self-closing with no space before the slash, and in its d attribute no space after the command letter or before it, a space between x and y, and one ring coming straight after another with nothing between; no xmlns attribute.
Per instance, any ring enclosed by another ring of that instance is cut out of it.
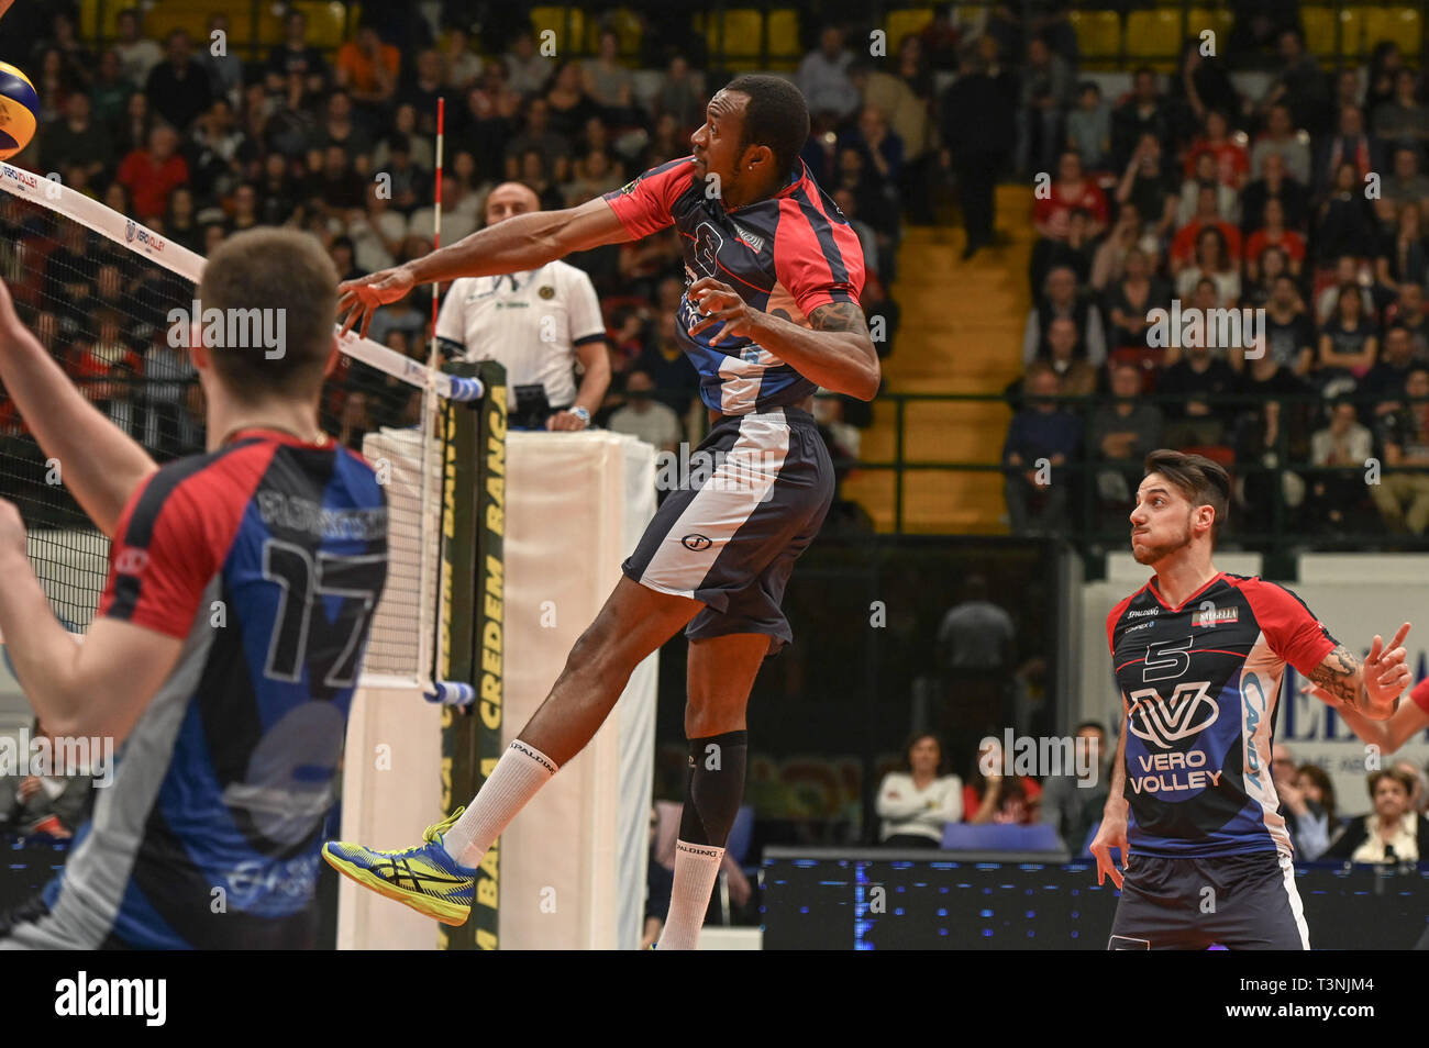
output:
<svg viewBox="0 0 1429 1048"><path fill-rule="evenodd" d="M527 186L504 181L486 197L486 226L539 210L540 200ZM453 281L437 317L437 341L467 363L502 363L510 391L507 423L516 428L584 430L610 386L596 288L563 261ZM576 360L583 370L580 388ZM544 407L533 413L532 400Z"/></svg>

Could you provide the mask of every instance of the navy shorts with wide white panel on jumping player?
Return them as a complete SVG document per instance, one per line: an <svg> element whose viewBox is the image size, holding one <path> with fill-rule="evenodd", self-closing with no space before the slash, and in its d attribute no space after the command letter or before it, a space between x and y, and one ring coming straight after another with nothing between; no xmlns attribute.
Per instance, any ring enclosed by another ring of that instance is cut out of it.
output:
<svg viewBox="0 0 1429 1048"><path fill-rule="evenodd" d="M684 630L690 640L760 633L775 654L793 640L780 608L789 574L833 503L819 427L792 407L727 415L690 464L620 570L704 604Z"/></svg>

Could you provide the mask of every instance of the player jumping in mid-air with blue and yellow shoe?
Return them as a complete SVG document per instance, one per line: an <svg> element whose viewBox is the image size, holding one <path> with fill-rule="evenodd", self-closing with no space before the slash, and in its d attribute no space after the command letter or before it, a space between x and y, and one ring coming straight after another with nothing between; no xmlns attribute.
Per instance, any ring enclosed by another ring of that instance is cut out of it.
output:
<svg viewBox="0 0 1429 1048"><path fill-rule="evenodd" d="M703 485L692 478L660 505L550 697L470 808L404 852L327 845L327 861L359 884L447 924L466 921L482 855L590 741L632 670L687 624L689 777L660 948L694 948L743 795L749 691L765 657L792 637L779 607L785 584L833 495L812 394L823 386L872 400L879 387L859 308L863 254L799 160L807 137L797 89L742 76L710 99L693 156L604 198L507 218L340 288L347 324L362 317L366 326L380 303L414 284L532 270L673 223L692 281L679 337L710 408L702 450L720 463Z"/></svg>

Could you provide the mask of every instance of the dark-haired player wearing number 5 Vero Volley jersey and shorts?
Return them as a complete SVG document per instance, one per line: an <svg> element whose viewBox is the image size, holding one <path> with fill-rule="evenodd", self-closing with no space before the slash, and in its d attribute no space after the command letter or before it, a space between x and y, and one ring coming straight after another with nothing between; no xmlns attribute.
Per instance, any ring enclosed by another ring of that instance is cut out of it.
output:
<svg viewBox="0 0 1429 1048"><path fill-rule="evenodd" d="M1126 708L1092 842L1097 881L1122 890L1112 949L1309 949L1270 778L1285 665L1372 720L1409 682L1408 623L1388 647L1375 637L1362 664L1290 591L1216 571L1229 497L1208 458L1146 457L1132 555L1156 575L1106 620Z"/></svg>

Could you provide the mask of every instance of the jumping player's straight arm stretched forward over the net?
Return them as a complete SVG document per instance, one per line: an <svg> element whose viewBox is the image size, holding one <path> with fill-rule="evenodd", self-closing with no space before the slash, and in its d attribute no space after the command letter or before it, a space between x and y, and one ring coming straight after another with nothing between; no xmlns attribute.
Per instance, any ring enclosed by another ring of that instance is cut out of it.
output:
<svg viewBox="0 0 1429 1048"><path fill-rule="evenodd" d="M534 270L573 251L630 238L602 197L560 211L517 214L420 258L339 284L337 314L344 333L362 321L359 330L366 336L377 307L397 301L417 284Z"/></svg>

